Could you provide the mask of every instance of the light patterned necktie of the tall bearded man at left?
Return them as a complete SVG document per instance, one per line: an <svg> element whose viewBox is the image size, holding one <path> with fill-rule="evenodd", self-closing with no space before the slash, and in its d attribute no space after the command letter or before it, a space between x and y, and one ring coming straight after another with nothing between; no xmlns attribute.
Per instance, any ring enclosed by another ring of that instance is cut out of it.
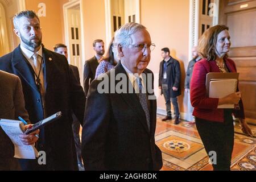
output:
<svg viewBox="0 0 256 182"><path fill-rule="evenodd" d="M32 57L33 57L33 63L34 63L34 68L35 68L35 73L36 73L36 85L38 86L38 89L40 89L40 93L43 95L44 94L43 67L41 65L39 55L37 53L34 53L34 55ZM40 71L40 69L41 69L41 71Z"/></svg>

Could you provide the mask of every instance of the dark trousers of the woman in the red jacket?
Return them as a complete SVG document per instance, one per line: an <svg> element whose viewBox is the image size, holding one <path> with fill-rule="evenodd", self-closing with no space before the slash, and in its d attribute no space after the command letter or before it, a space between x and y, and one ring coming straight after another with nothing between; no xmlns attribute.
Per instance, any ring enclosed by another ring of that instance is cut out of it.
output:
<svg viewBox="0 0 256 182"><path fill-rule="evenodd" d="M196 127L209 157L216 152L214 171L229 171L234 146L232 111L224 110L224 123L196 118Z"/></svg>

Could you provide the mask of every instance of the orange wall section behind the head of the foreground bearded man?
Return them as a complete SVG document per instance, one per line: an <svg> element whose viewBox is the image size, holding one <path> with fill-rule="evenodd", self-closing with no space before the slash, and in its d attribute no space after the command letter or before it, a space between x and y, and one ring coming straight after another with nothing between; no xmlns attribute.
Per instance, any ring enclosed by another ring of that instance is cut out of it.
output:
<svg viewBox="0 0 256 182"><path fill-rule="evenodd" d="M39 3L46 4L46 17L40 17L40 25L43 32L43 44L46 48L52 50L56 43L63 42L63 33L61 27L62 9L59 1L52 0L26 0L26 9L38 12Z"/></svg>

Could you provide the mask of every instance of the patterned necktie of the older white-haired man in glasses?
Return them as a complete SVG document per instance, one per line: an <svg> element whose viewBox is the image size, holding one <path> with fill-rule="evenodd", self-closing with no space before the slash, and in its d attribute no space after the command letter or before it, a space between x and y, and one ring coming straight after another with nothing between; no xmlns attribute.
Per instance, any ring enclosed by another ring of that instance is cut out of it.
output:
<svg viewBox="0 0 256 182"><path fill-rule="evenodd" d="M146 115L148 130L150 130L150 112L148 110L148 105L147 105L147 94L142 93L142 79L141 78L139 78L139 102L141 102L141 106Z"/></svg>

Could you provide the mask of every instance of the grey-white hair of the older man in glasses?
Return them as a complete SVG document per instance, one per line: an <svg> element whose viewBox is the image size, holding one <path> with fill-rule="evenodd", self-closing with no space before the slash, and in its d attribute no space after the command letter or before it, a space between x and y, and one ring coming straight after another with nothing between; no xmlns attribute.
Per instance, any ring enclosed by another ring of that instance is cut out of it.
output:
<svg viewBox="0 0 256 182"><path fill-rule="evenodd" d="M115 32L115 44L120 44L123 47L128 47L131 43L130 36L139 30L146 30L142 24L139 23L126 23Z"/></svg>

